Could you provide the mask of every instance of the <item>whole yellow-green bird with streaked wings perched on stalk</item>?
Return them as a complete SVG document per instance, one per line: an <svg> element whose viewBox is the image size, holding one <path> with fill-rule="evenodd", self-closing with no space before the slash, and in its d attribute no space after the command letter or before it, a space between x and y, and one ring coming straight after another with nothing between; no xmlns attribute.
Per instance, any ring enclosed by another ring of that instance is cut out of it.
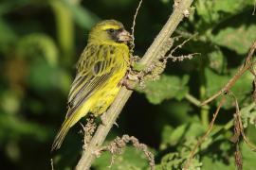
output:
<svg viewBox="0 0 256 170"><path fill-rule="evenodd" d="M97 116L112 104L129 68L127 43L131 40L129 32L115 20L101 21L91 29L68 94L64 123L52 150L60 148L69 128L88 112Z"/></svg>

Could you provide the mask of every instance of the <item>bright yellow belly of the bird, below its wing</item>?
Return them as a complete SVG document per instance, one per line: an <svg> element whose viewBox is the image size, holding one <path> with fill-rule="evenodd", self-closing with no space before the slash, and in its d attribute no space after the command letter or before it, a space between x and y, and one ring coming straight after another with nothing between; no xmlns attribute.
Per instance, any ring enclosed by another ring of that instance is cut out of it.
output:
<svg viewBox="0 0 256 170"><path fill-rule="evenodd" d="M99 115L108 109L119 93L119 82L124 75L125 73L111 77L102 89L93 95L94 99L92 100L94 101L94 104L92 105L90 112Z"/></svg>

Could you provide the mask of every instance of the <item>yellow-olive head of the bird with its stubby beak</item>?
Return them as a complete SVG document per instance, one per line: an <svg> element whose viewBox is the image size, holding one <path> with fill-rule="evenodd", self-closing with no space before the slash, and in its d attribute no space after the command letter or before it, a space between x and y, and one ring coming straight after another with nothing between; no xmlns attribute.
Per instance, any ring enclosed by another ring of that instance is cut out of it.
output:
<svg viewBox="0 0 256 170"><path fill-rule="evenodd" d="M132 41L131 34L116 20L104 20L92 28L89 42L127 43Z"/></svg>

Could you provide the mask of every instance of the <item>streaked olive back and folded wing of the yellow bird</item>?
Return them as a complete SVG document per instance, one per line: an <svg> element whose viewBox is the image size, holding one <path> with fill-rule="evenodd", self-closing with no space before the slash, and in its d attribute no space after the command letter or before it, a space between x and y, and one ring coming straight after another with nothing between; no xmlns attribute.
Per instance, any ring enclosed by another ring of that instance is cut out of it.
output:
<svg viewBox="0 0 256 170"><path fill-rule="evenodd" d="M117 65L110 49L104 45L89 45L78 62L78 72L68 95L66 118L70 117L95 92L105 85Z"/></svg>

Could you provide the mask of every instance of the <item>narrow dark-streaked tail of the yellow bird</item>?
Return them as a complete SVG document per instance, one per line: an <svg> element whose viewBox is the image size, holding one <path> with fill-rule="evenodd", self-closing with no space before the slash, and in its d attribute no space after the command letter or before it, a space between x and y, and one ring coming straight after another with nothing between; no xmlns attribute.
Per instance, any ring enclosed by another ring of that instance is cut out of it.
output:
<svg viewBox="0 0 256 170"><path fill-rule="evenodd" d="M61 145L64 142L64 137L65 137L67 131L69 130L69 128L72 127L73 123L74 123L74 116L65 118L64 123L63 123L61 129L58 131L58 134L55 137L54 142L51 146L51 152L54 150L57 150L61 147Z"/></svg>

